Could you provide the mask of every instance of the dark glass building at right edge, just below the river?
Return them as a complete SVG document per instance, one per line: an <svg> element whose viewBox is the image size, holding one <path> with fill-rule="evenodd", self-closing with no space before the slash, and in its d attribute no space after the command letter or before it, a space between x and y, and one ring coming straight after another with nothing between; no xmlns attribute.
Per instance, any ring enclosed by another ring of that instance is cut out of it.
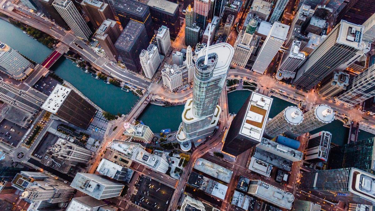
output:
<svg viewBox="0 0 375 211"><path fill-rule="evenodd" d="M375 170L374 159L375 142L374 138L369 138L331 148L328 168L355 167L366 172L373 172Z"/></svg>

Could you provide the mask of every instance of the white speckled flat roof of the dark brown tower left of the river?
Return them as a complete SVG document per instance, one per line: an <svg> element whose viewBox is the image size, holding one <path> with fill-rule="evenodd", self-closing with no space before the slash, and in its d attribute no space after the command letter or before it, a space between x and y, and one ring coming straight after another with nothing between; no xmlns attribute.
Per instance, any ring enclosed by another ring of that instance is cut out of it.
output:
<svg viewBox="0 0 375 211"><path fill-rule="evenodd" d="M55 114L71 92L68 87L56 84L52 93L48 96L42 105L42 109Z"/></svg>

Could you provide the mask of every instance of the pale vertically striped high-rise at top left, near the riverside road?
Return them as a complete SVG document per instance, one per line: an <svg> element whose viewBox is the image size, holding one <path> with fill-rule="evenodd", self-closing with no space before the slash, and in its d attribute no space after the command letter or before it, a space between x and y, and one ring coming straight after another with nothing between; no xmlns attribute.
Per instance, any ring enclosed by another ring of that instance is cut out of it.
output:
<svg viewBox="0 0 375 211"><path fill-rule="evenodd" d="M85 40L90 39L92 32L71 0L55 0L52 5L73 30L75 36Z"/></svg>

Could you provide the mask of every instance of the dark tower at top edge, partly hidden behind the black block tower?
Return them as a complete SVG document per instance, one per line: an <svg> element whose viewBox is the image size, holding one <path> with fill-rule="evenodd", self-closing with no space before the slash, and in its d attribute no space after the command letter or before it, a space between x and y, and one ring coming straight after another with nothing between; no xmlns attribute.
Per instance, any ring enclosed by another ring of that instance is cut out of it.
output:
<svg viewBox="0 0 375 211"><path fill-rule="evenodd" d="M144 25L147 41L153 38L155 35L154 24L151 20L150 8L146 4L135 0L116 0L113 8L123 29L125 29L130 20L135 20Z"/></svg>

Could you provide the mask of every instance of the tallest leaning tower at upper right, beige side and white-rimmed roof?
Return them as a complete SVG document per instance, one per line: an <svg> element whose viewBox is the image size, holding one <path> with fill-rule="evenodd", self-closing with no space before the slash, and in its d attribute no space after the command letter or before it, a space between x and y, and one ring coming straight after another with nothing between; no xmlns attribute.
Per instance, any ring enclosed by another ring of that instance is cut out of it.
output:
<svg viewBox="0 0 375 211"><path fill-rule="evenodd" d="M298 68L293 84L311 89L366 46L363 26L341 21ZM332 59L335 58L335 59Z"/></svg>

